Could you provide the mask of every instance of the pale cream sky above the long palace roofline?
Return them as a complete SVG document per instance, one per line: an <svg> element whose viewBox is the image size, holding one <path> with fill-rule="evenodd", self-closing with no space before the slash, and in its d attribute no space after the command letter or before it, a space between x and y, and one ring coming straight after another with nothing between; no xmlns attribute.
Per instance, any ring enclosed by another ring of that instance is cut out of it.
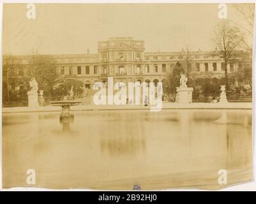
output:
<svg viewBox="0 0 256 204"><path fill-rule="evenodd" d="M98 53L98 41L133 37L145 41L145 52L213 50L211 34L218 4L36 4L36 18L26 17L27 4L4 4L3 54ZM232 4L227 17L243 22Z"/></svg>

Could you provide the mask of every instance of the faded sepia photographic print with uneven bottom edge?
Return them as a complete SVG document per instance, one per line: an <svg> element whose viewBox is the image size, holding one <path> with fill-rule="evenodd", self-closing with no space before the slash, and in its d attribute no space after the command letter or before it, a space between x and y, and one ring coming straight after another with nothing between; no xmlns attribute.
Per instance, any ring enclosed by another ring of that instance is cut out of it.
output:
<svg viewBox="0 0 256 204"><path fill-rule="evenodd" d="M254 3L3 3L3 189L253 182L254 12Z"/></svg>

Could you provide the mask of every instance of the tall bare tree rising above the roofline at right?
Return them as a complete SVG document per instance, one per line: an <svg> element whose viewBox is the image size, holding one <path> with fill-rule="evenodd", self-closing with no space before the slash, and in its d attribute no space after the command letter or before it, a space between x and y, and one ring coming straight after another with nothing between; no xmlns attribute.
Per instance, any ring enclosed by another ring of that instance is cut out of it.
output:
<svg viewBox="0 0 256 204"><path fill-rule="evenodd" d="M229 89L229 77L227 73L227 65L230 61L234 61L238 57L238 50L241 48L243 37L240 30L236 26L230 26L229 22L223 21L217 25L212 38L216 46L216 52L222 57L225 66L225 84Z"/></svg>

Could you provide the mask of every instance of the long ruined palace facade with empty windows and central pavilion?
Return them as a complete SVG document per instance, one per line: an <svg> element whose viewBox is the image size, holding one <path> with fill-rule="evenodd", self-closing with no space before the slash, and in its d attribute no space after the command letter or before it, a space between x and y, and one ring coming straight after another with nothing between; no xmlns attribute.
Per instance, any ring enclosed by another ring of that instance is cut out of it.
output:
<svg viewBox="0 0 256 204"><path fill-rule="evenodd" d="M171 49L171 47L170 47ZM133 38L109 38L98 42L98 54L52 55L57 63L57 73L66 79L81 80L91 88L94 82L163 82L177 63L186 71L186 52L144 52L145 42ZM190 52L190 77L224 77L224 63L212 51ZM17 65L29 65L29 56L15 56ZM238 68L229 64L228 72ZM26 66L20 66L21 69ZM19 68L18 68L19 69ZM19 70L26 75L26 70Z"/></svg>

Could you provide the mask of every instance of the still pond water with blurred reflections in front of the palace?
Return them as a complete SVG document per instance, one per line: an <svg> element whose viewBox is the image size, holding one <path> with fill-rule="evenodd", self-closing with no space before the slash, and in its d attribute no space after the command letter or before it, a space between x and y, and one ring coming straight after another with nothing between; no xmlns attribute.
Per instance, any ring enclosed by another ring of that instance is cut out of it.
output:
<svg viewBox="0 0 256 204"><path fill-rule="evenodd" d="M251 179L251 110L75 112L63 129L58 119L3 113L4 187L26 186L29 168L36 186L56 188L216 189L220 169L228 184Z"/></svg>

